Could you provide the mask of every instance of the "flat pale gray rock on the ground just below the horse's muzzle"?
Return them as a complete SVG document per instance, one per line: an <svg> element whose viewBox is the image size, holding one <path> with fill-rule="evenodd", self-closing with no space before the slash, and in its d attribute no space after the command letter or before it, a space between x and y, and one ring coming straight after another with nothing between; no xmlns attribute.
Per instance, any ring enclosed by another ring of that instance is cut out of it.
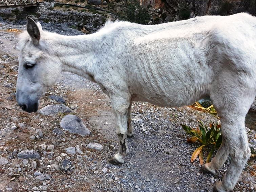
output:
<svg viewBox="0 0 256 192"><path fill-rule="evenodd" d="M59 105L47 105L43 107L42 109L38 110L39 113L43 115L48 115L48 116L54 116L58 113L69 113L71 112L71 109L63 104Z"/></svg>

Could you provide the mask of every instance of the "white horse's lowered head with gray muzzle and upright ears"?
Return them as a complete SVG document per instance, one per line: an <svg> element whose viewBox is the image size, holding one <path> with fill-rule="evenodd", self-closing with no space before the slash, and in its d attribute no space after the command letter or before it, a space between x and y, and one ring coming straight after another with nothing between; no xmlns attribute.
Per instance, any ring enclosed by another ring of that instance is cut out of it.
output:
<svg viewBox="0 0 256 192"><path fill-rule="evenodd" d="M19 42L16 88L17 103L27 112L38 110L39 98L61 73L61 64L50 56L46 40L47 32L44 33L41 24L27 17L27 32L21 34Z"/></svg>

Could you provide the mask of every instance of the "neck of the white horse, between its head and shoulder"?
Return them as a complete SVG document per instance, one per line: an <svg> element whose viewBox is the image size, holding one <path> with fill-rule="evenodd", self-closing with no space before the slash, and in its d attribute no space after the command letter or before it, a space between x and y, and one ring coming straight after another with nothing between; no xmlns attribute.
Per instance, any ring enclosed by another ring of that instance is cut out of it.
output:
<svg viewBox="0 0 256 192"><path fill-rule="evenodd" d="M102 62L102 53L108 49L106 41L108 39L104 37L104 33L98 32L80 36L54 34L48 42L51 54L60 59L63 71L94 81L95 66Z"/></svg>

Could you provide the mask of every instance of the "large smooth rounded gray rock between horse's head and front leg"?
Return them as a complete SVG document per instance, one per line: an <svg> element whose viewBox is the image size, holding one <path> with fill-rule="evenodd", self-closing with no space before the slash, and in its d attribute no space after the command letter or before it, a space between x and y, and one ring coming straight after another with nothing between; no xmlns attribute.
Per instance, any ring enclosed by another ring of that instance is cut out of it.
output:
<svg viewBox="0 0 256 192"><path fill-rule="evenodd" d="M60 122L62 129L69 131L70 133L77 133L81 136L88 135L90 130L86 128L83 121L76 115L68 114Z"/></svg>

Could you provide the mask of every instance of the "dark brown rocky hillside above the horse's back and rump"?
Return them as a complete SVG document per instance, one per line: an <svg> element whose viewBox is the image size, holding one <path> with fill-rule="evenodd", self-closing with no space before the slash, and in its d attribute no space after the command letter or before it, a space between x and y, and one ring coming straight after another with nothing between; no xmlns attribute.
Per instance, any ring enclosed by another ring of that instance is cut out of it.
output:
<svg viewBox="0 0 256 192"><path fill-rule="evenodd" d="M203 15L232 15L247 12L256 15L254 0L140 0L143 6L159 9L161 22L178 21Z"/></svg>

